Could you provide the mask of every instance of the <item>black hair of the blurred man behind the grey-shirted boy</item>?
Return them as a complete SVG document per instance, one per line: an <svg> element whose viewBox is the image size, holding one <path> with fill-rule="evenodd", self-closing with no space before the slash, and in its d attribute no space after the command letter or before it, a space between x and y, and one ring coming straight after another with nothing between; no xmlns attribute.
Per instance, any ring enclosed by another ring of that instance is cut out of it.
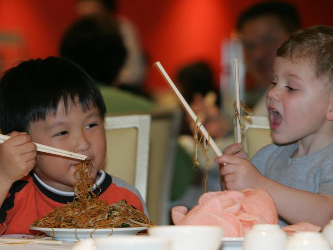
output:
<svg viewBox="0 0 333 250"><path fill-rule="evenodd" d="M289 34L301 28L301 21L294 5L282 1L273 1L261 2L245 10L237 20L237 30L241 32L246 22L264 15L276 16Z"/></svg>

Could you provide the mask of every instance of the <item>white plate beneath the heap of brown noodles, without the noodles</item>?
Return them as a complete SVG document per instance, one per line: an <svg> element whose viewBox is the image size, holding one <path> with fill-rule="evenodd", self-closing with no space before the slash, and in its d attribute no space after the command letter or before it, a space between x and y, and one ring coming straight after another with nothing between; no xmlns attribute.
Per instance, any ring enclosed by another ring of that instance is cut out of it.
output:
<svg viewBox="0 0 333 250"><path fill-rule="evenodd" d="M112 235L134 235L142 230L146 230L147 226L140 227L123 227L123 228L113 228ZM49 227L35 227L31 226L31 230L37 230L45 233L48 236L52 237L52 228ZM78 239L89 239L90 233L94 231L94 228L77 228L76 237L75 237L75 228L53 228L54 238L56 240L63 241L78 241ZM95 230L92 234L93 238L97 237L107 237L112 232L111 228L99 228ZM78 238L78 239L77 239Z"/></svg>

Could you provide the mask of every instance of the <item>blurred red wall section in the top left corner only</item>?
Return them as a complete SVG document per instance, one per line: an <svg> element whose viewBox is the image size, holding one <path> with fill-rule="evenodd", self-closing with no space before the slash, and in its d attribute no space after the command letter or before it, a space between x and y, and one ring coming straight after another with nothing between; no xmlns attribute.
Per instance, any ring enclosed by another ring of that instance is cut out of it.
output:
<svg viewBox="0 0 333 250"><path fill-rule="evenodd" d="M57 55L61 34L75 18L74 1L0 0L0 37L22 38L19 45L0 39L0 56L6 56L3 70L17 59Z"/></svg>

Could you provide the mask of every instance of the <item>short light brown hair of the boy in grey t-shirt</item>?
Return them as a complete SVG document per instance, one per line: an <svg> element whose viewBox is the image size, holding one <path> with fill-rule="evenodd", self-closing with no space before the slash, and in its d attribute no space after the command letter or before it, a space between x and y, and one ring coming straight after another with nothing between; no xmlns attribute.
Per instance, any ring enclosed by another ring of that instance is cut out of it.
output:
<svg viewBox="0 0 333 250"><path fill-rule="evenodd" d="M280 46L277 56L292 61L309 60L318 79L333 92L333 27L313 26L299 30Z"/></svg>

